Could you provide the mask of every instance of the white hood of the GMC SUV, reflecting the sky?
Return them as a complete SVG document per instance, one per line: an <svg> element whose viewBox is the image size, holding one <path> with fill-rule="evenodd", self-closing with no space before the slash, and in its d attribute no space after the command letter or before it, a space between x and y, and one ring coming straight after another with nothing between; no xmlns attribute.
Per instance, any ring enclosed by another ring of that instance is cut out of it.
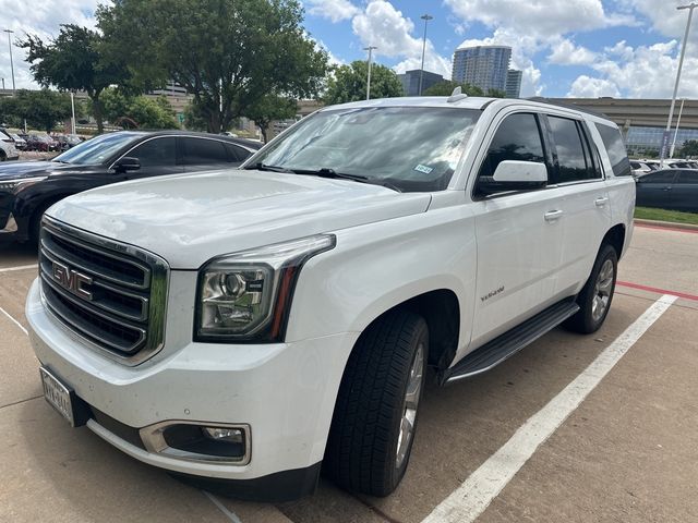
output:
<svg viewBox="0 0 698 523"><path fill-rule="evenodd" d="M221 254L424 212L430 202L347 180L227 170L108 185L48 215L195 269Z"/></svg>

